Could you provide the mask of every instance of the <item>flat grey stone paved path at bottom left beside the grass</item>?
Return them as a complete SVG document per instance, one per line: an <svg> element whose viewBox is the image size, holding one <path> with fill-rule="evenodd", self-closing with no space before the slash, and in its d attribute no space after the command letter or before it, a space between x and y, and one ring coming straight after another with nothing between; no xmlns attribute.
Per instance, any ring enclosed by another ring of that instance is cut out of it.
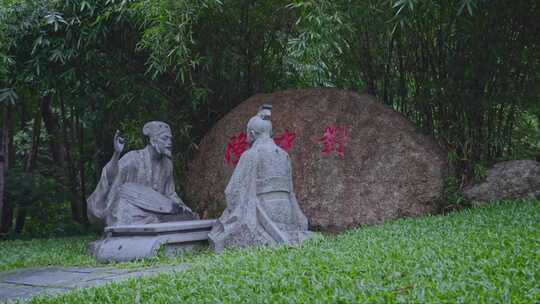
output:
<svg viewBox="0 0 540 304"><path fill-rule="evenodd" d="M105 285L160 272L182 271L187 267L187 264L139 269L47 267L4 272L0 273L0 303Z"/></svg>

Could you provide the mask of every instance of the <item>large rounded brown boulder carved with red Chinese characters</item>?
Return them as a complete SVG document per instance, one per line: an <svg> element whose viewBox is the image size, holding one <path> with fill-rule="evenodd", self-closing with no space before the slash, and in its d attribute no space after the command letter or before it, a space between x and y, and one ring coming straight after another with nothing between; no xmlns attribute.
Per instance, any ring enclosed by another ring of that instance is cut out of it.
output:
<svg viewBox="0 0 540 304"><path fill-rule="evenodd" d="M312 229L337 232L437 210L447 157L432 139L370 95L309 89L255 95L204 137L186 184L187 198L203 217L219 216L225 208L223 192L234 170L224 160L226 146L245 132L263 103L273 105L275 136L286 129L296 135L288 152L297 198ZM320 141L333 126L347 131L341 156L324 153Z"/></svg>

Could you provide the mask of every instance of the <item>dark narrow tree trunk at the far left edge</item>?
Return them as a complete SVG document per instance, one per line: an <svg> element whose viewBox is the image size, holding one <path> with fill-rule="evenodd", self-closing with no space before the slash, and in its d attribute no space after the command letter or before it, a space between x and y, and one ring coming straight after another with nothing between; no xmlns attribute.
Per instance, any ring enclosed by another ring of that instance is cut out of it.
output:
<svg viewBox="0 0 540 304"><path fill-rule="evenodd" d="M9 167L11 165L12 156L12 144L13 144L13 132L12 132L12 125L11 125L11 114L12 114L12 108L10 106L6 106L4 109L4 123L2 126L2 155L3 155L3 162L2 162L2 172L1 172L1 179L2 179L2 198L0 199L1 205L0 205L0 233L7 233L11 229L11 225L13 224L13 209L8 200L5 199L5 191L4 191L4 185L5 185L5 177L7 175L7 172L9 170Z"/></svg>

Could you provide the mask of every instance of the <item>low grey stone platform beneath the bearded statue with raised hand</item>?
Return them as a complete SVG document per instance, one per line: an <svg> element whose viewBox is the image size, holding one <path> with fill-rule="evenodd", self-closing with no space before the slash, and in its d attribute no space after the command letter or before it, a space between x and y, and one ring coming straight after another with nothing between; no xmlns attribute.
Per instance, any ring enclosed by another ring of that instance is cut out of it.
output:
<svg viewBox="0 0 540 304"><path fill-rule="evenodd" d="M105 228L105 237L89 245L99 261L131 261L155 256L179 255L206 246L215 220L195 220Z"/></svg>

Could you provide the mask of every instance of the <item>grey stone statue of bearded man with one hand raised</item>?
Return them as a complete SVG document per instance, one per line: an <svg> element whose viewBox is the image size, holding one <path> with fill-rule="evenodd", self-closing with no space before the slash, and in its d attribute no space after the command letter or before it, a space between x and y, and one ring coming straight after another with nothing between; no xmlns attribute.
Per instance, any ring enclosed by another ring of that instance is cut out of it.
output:
<svg viewBox="0 0 540 304"><path fill-rule="evenodd" d="M149 138L146 148L120 158L124 139L116 131L113 157L87 200L92 222L120 226L198 218L175 192L169 125L149 122L143 134Z"/></svg>

